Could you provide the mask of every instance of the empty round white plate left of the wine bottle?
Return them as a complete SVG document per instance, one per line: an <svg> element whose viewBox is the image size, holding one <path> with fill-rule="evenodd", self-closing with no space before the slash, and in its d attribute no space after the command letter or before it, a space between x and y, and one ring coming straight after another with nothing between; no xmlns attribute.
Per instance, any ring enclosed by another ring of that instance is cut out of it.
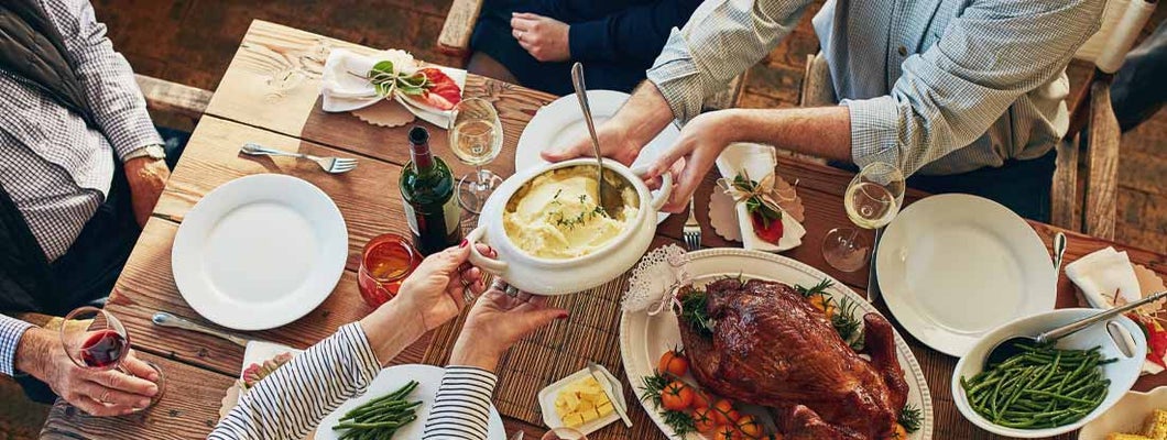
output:
<svg viewBox="0 0 1167 440"><path fill-rule="evenodd" d="M341 211L320 188L280 174L239 177L207 194L179 225L174 282L219 326L274 328L328 298L348 240Z"/></svg>

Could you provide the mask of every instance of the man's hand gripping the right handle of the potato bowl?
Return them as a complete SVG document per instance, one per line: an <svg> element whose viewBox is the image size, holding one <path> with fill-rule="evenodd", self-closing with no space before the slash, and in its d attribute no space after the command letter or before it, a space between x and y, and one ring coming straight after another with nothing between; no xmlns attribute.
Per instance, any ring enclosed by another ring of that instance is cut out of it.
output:
<svg viewBox="0 0 1167 440"><path fill-rule="evenodd" d="M731 118L728 111L701 113L693 118L680 130L677 144L652 163L647 180L664 173L673 174L672 194L663 211L682 212L689 208L689 198L697 186L713 168L721 151L733 141Z"/></svg>

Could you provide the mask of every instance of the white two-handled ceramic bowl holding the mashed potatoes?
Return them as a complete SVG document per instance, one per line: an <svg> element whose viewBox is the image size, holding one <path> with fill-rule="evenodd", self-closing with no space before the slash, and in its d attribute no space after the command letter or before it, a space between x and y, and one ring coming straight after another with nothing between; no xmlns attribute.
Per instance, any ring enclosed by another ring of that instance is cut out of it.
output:
<svg viewBox="0 0 1167 440"><path fill-rule="evenodd" d="M478 226L467 235L470 243L470 263L522 291L540 295L562 295L586 291L612 281L628 271L644 256L656 233L657 212L669 201L672 177L665 173L661 190L654 197L641 176L647 167L630 169L614 160L605 160L606 173L617 173L636 189L640 210L628 228L608 244L592 253L576 258L551 259L533 257L510 240L503 228L503 211L506 202L524 183L552 169L575 166L595 166L595 159L580 158L558 163L547 163L516 174L498 186L487 200L478 216ZM474 246L476 242L489 244L498 253L490 259Z"/></svg>

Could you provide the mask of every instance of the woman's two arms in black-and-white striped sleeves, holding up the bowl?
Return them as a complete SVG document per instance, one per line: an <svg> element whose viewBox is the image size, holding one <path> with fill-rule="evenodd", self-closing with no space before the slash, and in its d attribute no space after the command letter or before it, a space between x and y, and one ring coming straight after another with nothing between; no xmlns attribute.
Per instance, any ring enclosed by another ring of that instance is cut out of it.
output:
<svg viewBox="0 0 1167 440"><path fill-rule="evenodd" d="M477 246L495 254L487 245ZM485 289L482 272L467 263L469 254L462 240L427 257L393 300L260 380L209 438L303 438L345 400L363 393L401 350L457 316L470 294L485 291L474 301L457 337L422 436L484 440L499 357L527 334L567 317L567 312L548 308L546 296L513 291L501 280Z"/></svg>

